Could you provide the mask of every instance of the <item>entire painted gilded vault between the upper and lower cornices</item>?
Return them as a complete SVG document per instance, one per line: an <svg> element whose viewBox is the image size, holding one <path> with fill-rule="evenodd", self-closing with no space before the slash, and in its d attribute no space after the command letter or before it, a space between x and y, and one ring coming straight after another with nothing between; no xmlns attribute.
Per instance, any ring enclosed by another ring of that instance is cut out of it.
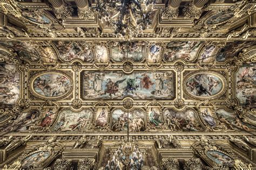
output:
<svg viewBox="0 0 256 170"><path fill-rule="evenodd" d="M1 131L255 131L255 41L1 41ZM14 119L14 116L17 118Z"/></svg>

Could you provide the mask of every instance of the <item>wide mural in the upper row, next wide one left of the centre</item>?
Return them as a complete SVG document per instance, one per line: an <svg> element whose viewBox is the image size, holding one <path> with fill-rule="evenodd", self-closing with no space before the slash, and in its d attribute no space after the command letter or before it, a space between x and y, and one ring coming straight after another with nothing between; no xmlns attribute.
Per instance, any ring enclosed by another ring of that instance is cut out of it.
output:
<svg viewBox="0 0 256 170"><path fill-rule="evenodd" d="M60 59L63 61L80 59L84 62L90 62L93 60L93 54L89 42L53 41L53 44L57 47Z"/></svg>

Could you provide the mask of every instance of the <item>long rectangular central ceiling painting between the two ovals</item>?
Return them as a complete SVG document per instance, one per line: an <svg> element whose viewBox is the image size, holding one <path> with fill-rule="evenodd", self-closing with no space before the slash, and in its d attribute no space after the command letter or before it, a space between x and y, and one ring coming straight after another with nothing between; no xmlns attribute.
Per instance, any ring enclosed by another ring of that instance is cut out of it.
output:
<svg viewBox="0 0 256 170"><path fill-rule="evenodd" d="M173 72L83 72L85 99L172 99L174 96Z"/></svg>

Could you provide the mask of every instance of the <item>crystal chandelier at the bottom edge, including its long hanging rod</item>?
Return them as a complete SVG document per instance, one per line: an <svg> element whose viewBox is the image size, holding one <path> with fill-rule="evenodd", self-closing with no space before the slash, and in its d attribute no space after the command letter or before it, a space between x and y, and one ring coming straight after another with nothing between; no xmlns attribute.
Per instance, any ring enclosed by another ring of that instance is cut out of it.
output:
<svg viewBox="0 0 256 170"><path fill-rule="evenodd" d="M130 169L139 170L143 168L144 159L138 145L129 141L129 112L127 122L127 139L118 150L111 155L105 166L106 170Z"/></svg>

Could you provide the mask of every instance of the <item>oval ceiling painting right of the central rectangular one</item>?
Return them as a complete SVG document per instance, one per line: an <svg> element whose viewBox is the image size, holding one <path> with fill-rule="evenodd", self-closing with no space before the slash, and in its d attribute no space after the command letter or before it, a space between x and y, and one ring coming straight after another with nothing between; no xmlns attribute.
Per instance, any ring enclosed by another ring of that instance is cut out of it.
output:
<svg viewBox="0 0 256 170"><path fill-rule="evenodd" d="M195 74L186 83L186 90L193 96L210 97L217 95L223 89L223 81L214 74Z"/></svg>

